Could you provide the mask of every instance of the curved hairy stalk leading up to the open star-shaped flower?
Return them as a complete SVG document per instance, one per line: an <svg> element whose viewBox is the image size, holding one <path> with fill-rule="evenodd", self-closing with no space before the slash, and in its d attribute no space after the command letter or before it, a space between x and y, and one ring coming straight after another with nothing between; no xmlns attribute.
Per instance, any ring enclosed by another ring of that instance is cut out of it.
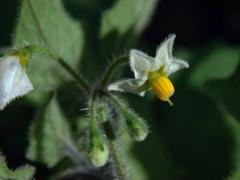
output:
<svg viewBox="0 0 240 180"><path fill-rule="evenodd" d="M108 81L111 79L114 71L122 64L127 63L128 59L126 59L126 55L122 55L118 57L114 62L112 62L106 72L103 75L102 80L100 81L100 87L105 87Z"/></svg>

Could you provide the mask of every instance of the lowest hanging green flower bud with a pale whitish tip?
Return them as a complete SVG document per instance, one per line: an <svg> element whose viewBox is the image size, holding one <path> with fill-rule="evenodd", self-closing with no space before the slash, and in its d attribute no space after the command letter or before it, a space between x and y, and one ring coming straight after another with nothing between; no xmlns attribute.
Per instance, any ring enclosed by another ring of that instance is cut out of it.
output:
<svg viewBox="0 0 240 180"><path fill-rule="evenodd" d="M89 141L88 156L91 162L96 167L105 165L109 156L108 146L106 145L100 130L93 124L90 125Z"/></svg>

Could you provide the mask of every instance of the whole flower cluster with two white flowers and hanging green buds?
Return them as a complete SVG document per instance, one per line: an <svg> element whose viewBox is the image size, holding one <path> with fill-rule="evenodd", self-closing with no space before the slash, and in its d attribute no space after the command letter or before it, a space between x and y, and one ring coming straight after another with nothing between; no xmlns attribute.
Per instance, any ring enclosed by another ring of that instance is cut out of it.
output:
<svg viewBox="0 0 240 180"><path fill-rule="evenodd" d="M88 155L94 166L100 167L107 163L110 156L108 144L111 144L111 141L114 141L115 138L112 135L112 132L114 132L110 120L112 118L107 111L106 104L111 105L123 117L126 129L134 140L143 141L149 133L145 121L131 110L124 101L121 101L109 91L131 92L143 96L145 91L152 89L160 100L167 101L170 105L173 104L170 97L175 89L168 76L182 68L189 67L186 61L177 59L172 55L175 37L175 35L170 35L157 48L155 57L150 57L136 49L130 50L130 67L135 78L112 83L107 86L108 91L104 89L98 92L98 89L95 89L92 91L93 94L88 94L91 100ZM36 50L37 48L29 49ZM52 57L56 58L55 56ZM55 60L88 92L90 87L84 79L78 76L63 60L59 58ZM0 58L0 110L16 97L23 96L33 89L26 74L26 64L26 56L21 51ZM106 99L103 98L103 94L106 95ZM105 132L103 133L101 129ZM107 138L110 139L109 142L107 142Z"/></svg>

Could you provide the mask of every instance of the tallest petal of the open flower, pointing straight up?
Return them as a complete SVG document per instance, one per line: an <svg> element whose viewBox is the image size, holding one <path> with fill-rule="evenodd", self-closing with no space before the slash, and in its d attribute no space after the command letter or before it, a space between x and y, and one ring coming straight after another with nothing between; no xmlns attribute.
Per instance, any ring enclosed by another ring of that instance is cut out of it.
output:
<svg viewBox="0 0 240 180"><path fill-rule="evenodd" d="M157 48L155 61L158 67L161 67L162 65L168 66L171 63L175 37L175 34L170 34L168 38Z"/></svg>

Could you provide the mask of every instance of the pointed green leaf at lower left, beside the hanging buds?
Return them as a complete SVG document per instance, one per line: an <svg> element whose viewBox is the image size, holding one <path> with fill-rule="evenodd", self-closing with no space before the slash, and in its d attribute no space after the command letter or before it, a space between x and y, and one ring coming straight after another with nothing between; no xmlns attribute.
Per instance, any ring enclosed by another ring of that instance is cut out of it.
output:
<svg viewBox="0 0 240 180"><path fill-rule="evenodd" d="M53 167L65 156L64 147L71 140L69 125L55 97L50 97L32 124L27 157Z"/></svg>

